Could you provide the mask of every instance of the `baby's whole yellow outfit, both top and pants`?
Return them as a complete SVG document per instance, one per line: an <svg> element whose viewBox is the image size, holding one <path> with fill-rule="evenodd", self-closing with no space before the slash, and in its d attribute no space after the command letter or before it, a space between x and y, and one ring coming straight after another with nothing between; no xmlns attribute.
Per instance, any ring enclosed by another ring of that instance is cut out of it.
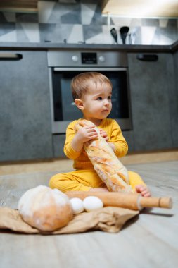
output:
<svg viewBox="0 0 178 268"><path fill-rule="evenodd" d="M73 167L75 171L58 173L49 181L49 187L58 188L63 192L68 190L89 191L91 188L106 187L105 183L101 181L101 178L98 177L98 174L94 170L84 148L82 148L82 151L76 152L71 146L72 139L75 136L74 127L79 120L75 120L68 125L64 145L66 156L74 160ZM109 138L108 142L112 142L115 145L116 156L119 158L124 157L127 154L128 145L117 122L113 119L106 118L101 121L98 128L106 131ZM128 171L128 174L129 184L133 189L136 185L145 185L139 174L133 171Z"/></svg>

